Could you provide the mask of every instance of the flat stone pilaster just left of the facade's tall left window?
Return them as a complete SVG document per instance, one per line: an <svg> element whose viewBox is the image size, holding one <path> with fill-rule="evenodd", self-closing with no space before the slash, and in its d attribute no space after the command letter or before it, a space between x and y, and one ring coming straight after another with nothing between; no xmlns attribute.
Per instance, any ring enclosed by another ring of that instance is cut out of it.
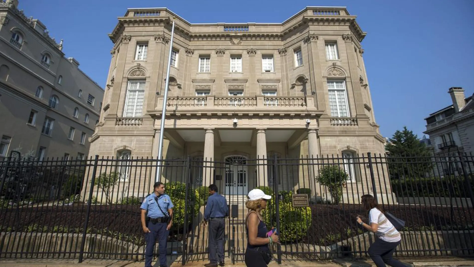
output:
<svg viewBox="0 0 474 267"><path fill-rule="evenodd" d="M110 99L110 112L109 115L112 117L118 116L118 100L120 99L120 91L126 90L122 87L122 77L124 76L125 63L127 62L127 52L128 52L128 42L132 39L131 35L122 35L120 37L120 52L118 53L118 65L115 76L117 76L117 81L114 81L114 86L112 87L112 97Z"/></svg>

